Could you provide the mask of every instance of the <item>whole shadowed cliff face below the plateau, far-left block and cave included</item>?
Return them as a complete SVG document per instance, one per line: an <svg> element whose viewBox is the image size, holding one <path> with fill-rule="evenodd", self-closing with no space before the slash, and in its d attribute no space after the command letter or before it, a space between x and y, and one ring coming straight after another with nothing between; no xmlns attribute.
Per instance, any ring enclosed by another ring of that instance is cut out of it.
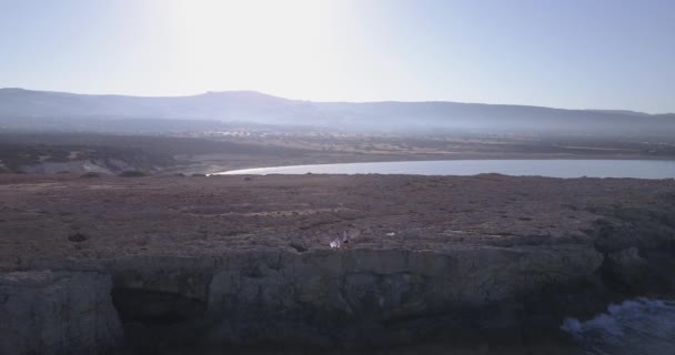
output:
<svg viewBox="0 0 675 355"><path fill-rule="evenodd" d="M16 315L0 333L23 329L18 337L2 338L32 346L26 349L105 353L119 344L119 315L128 339L140 348L157 346L158 339L163 346L387 345L446 331L453 325L444 317L455 318L454 326L464 324L467 318L460 315L466 310L591 280L602 262L600 253L578 246L56 261L36 266L58 272L6 274L2 287L10 280L13 288L8 288L10 302L3 310ZM39 287L32 287L36 281ZM33 298L39 302L27 301ZM40 318L29 318L36 313ZM7 354L23 348L6 341L1 345Z"/></svg>

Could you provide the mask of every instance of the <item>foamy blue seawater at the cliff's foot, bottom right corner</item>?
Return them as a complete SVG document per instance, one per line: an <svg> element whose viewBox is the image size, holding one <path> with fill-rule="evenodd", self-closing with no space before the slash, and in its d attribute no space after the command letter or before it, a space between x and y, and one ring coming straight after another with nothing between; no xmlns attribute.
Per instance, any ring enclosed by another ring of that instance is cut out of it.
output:
<svg viewBox="0 0 675 355"><path fill-rule="evenodd" d="M675 354L675 302L638 298L612 304L588 321L566 318L570 333L584 354Z"/></svg>

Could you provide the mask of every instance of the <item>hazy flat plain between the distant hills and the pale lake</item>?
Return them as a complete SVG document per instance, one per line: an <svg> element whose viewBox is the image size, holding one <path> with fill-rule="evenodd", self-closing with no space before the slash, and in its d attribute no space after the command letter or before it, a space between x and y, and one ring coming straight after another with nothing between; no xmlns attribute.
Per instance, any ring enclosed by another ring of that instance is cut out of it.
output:
<svg viewBox="0 0 675 355"><path fill-rule="evenodd" d="M0 173L153 175L324 163L466 159L672 160L671 138L508 133L357 134L233 129L165 135L3 132Z"/></svg>

